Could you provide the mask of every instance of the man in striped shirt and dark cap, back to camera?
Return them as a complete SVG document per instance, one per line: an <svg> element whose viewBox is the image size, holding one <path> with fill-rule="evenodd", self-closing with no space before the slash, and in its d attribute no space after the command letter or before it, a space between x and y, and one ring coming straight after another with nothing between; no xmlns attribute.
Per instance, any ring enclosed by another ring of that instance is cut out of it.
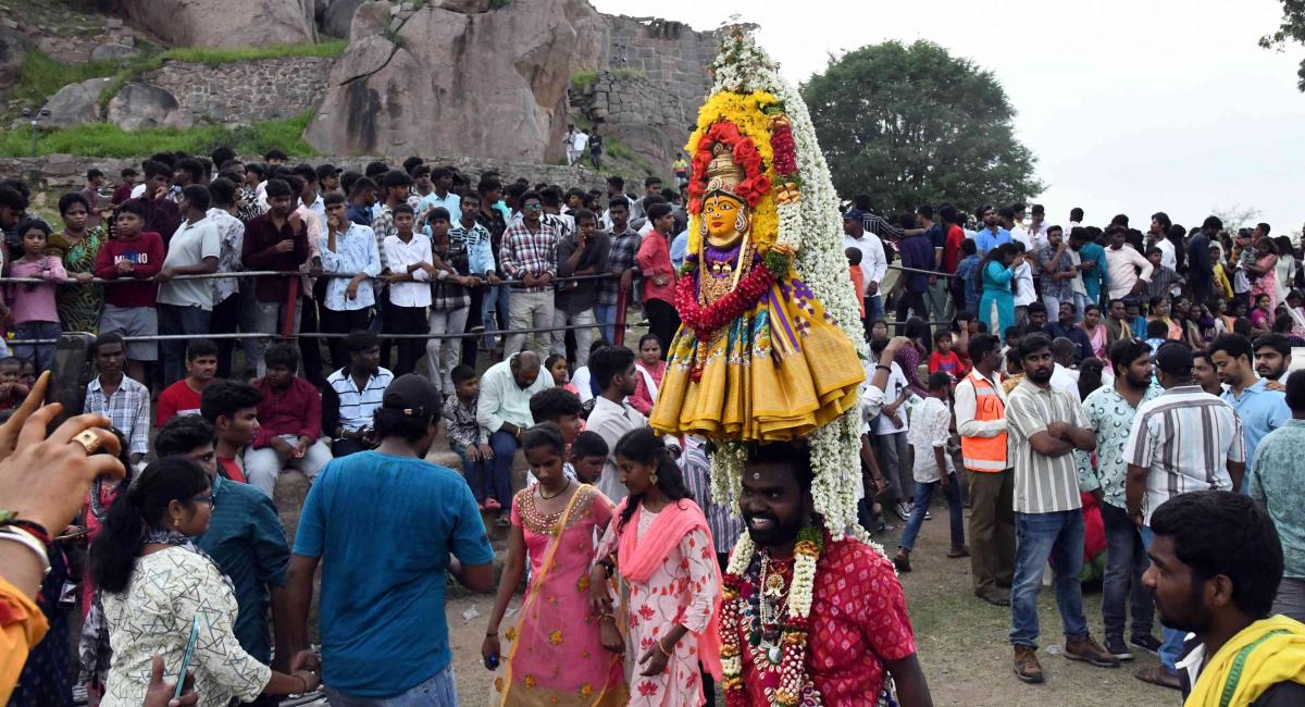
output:
<svg viewBox="0 0 1305 707"><path fill-rule="evenodd" d="M1160 504L1191 490L1235 490L1246 467L1241 419L1227 402L1195 385L1193 363L1191 348L1182 342L1165 342L1156 351L1164 393L1138 406L1124 446L1129 463L1125 502L1148 550L1155 539L1151 514ZM1138 670L1137 678L1177 690L1182 638L1167 626L1161 665Z"/></svg>

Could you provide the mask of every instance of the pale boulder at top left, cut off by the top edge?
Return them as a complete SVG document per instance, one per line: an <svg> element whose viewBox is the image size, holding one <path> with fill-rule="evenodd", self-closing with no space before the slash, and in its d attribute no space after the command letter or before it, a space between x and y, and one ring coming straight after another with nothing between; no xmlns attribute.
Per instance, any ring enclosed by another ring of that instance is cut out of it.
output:
<svg viewBox="0 0 1305 707"><path fill-rule="evenodd" d="M119 0L128 17L174 46L261 47L315 42L315 0Z"/></svg>

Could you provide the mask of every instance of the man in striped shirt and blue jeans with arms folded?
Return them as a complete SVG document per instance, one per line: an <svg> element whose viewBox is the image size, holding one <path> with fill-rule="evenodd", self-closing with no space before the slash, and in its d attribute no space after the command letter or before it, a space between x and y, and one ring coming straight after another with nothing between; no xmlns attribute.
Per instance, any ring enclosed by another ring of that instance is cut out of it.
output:
<svg viewBox="0 0 1305 707"><path fill-rule="evenodd" d="M1010 642L1015 677L1041 682L1037 663L1037 591L1043 567L1054 570L1056 605L1065 629L1065 657L1103 668L1120 661L1087 631L1083 591L1083 513L1075 449L1092 451L1096 434L1087 428L1078 398L1052 386L1052 342L1031 334L1019 342L1024 380L1010 391L1006 425L1015 462L1015 577L1010 591Z"/></svg>

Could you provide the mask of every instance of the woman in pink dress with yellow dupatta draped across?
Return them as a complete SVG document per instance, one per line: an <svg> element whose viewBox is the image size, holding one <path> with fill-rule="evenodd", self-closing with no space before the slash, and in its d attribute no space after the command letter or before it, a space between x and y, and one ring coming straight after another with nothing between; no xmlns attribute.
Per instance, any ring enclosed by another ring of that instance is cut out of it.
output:
<svg viewBox="0 0 1305 707"><path fill-rule="evenodd" d="M564 446L552 423L531 428L522 438L539 483L513 498L508 565L480 650L487 668L504 664L504 674L495 680L504 707L625 704L621 656L603 648L600 614L591 613L589 603L594 531L607 528L612 504L594 487L562 474ZM521 583L527 553L530 586L519 622L502 635L508 650L500 656L499 626Z"/></svg>

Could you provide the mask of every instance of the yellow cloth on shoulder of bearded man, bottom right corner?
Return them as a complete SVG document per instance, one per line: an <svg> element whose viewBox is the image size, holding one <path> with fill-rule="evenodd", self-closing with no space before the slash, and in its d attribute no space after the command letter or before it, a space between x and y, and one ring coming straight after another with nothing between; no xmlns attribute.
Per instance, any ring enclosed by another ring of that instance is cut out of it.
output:
<svg viewBox="0 0 1305 707"><path fill-rule="evenodd" d="M1184 706L1250 704L1279 682L1305 685L1305 624L1285 616L1257 621L1224 643Z"/></svg>

